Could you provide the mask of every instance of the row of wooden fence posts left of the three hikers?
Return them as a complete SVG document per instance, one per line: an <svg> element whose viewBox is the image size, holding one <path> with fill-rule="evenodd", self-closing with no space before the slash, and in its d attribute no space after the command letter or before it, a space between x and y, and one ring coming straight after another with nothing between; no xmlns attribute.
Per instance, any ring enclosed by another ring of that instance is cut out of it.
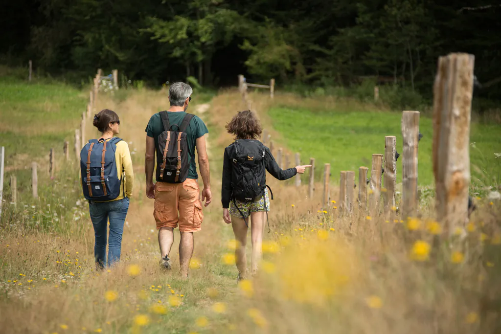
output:
<svg viewBox="0 0 501 334"><path fill-rule="evenodd" d="M113 84L115 88L118 88L118 71L113 70ZM98 69L96 77L94 78L94 85L89 92L89 102L87 103L87 109L82 112L82 119L80 121L80 128L75 129L75 157L77 161L80 159L80 150L85 146L87 140L85 139L85 127L86 123L91 118L92 113L95 112L96 101L99 92L100 79L103 75L103 71ZM29 62L29 81L32 78L32 61ZM70 160L70 142L65 141L63 143L63 153L67 161ZM55 165L55 154L54 148L49 150L49 176L54 178L56 165ZM0 215L2 214L2 203L3 203L3 187L4 187L4 160L5 160L5 148L0 147ZM34 198L38 198L38 164L32 162L32 195ZM17 203L17 177L11 175L10 177L11 186L11 203L16 205Z"/></svg>

